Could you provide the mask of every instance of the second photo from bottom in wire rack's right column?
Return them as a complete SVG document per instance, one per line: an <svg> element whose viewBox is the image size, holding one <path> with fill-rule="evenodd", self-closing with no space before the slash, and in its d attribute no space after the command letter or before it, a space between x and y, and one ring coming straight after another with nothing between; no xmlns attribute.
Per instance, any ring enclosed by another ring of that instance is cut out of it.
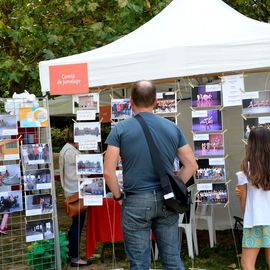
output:
<svg viewBox="0 0 270 270"><path fill-rule="evenodd" d="M52 195L37 194L25 196L26 216L44 215L53 212Z"/></svg>

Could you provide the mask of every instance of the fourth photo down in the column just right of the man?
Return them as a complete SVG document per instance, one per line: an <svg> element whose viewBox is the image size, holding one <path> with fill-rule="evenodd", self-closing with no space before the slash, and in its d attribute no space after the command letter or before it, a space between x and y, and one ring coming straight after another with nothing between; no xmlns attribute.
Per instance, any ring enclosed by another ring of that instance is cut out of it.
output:
<svg viewBox="0 0 270 270"><path fill-rule="evenodd" d="M226 179L224 158L208 158L197 160L199 168L195 173L196 180L222 180Z"/></svg>

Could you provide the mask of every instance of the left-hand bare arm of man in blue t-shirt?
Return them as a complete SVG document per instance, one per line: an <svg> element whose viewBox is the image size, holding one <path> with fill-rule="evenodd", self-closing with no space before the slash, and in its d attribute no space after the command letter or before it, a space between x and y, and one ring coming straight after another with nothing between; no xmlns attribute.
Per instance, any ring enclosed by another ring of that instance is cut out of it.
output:
<svg viewBox="0 0 270 270"><path fill-rule="evenodd" d="M118 147L108 145L104 157L104 178L115 198L119 198L121 196L121 191L115 174L117 162L119 160L119 153L120 149Z"/></svg>

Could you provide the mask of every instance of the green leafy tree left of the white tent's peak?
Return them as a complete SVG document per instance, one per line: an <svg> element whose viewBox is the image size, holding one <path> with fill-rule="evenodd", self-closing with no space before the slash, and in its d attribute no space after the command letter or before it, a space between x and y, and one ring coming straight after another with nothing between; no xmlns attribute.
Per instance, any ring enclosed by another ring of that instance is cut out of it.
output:
<svg viewBox="0 0 270 270"><path fill-rule="evenodd" d="M0 0L0 93L40 96L38 63L108 44L170 0Z"/></svg>

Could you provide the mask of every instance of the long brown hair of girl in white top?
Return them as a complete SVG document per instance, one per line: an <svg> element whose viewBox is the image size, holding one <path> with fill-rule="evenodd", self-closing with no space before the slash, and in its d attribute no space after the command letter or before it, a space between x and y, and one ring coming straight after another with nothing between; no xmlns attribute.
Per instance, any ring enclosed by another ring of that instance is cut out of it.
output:
<svg viewBox="0 0 270 270"><path fill-rule="evenodd" d="M241 170L257 188L270 190L270 130L253 128L248 137Z"/></svg>

